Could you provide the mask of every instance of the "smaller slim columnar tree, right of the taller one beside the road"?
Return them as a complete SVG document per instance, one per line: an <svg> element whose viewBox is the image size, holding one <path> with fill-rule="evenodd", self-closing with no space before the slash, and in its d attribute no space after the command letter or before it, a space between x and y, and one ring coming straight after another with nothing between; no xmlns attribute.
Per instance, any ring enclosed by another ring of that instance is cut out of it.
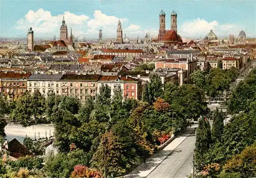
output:
<svg viewBox="0 0 256 178"><path fill-rule="evenodd" d="M223 112L219 111L218 108L216 108L216 110L214 111L213 120L214 121L212 123L212 130L211 130L212 140L214 140L215 142L221 141L221 137L224 130L224 122L223 122L224 116L223 116Z"/></svg>

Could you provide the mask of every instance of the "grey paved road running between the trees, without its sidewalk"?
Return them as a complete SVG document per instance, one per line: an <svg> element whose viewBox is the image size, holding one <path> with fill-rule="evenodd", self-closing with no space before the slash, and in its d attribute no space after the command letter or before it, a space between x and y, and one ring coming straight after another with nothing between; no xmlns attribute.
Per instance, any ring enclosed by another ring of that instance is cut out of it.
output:
<svg viewBox="0 0 256 178"><path fill-rule="evenodd" d="M147 177L186 177L193 171L193 152L196 136L189 135L165 160Z"/></svg>

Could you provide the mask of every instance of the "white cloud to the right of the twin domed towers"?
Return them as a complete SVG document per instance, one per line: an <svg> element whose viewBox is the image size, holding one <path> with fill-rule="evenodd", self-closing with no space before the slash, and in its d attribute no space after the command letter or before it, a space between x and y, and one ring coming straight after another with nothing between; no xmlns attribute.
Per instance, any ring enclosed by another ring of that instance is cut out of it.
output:
<svg viewBox="0 0 256 178"><path fill-rule="evenodd" d="M203 38L209 31L212 30L217 37L228 37L229 34L238 34L242 27L237 24L220 24L218 21L206 21L205 19L194 19L193 21L186 21L178 29L182 37Z"/></svg>

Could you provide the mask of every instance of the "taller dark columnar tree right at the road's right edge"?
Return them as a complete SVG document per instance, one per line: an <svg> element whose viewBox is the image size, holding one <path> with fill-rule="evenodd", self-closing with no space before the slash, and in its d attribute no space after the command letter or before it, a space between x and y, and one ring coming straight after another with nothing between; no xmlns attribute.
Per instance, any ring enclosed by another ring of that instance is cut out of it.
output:
<svg viewBox="0 0 256 178"><path fill-rule="evenodd" d="M195 162L198 170L202 170L206 163L206 154L210 147L210 125L207 119L198 120L196 130Z"/></svg>

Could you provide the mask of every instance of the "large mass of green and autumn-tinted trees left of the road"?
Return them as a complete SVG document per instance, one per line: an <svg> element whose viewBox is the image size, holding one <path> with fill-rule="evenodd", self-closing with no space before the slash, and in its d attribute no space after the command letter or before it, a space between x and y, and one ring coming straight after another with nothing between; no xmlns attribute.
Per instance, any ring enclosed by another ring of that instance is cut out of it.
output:
<svg viewBox="0 0 256 178"><path fill-rule="evenodd" d="M157 74L150 76L142 98L123 100L119 88L111 97L108 85L100 88L96 101L89 97L83 105L75 97L45 99L40 93L25 93L16 101L11 118L25 126L42 120L54 123L59 153L46 156L45 166L36 171L25 165L13 171L17 174L23 168L22 172L38 177L102 177L103 172L120 176L151 156L172 133L182 132L188 119L208 112L199 87L162 85ZM31 139L24 144L40 155Z"/></svg>

